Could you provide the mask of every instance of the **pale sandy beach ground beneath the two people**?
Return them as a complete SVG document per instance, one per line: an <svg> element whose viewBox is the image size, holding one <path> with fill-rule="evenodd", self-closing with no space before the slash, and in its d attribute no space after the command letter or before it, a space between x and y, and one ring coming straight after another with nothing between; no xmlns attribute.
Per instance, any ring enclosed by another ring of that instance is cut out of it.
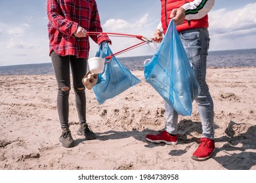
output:
<svg viewBox="0 0 256 183"><path fill-rule="evenodd" d="M256 68L209 68L207 82L215 105L215 152L207 161L190 157L202 134L192 116L179 117L178 144L152 144L145 135L165 126L163 99L142 82L98 105L86 90L87 123L97 139L85 141L74 92L70 130L74 148L64 148L56 110L54 75L0 76L0 169L2 170L256 170Z"/></svg>

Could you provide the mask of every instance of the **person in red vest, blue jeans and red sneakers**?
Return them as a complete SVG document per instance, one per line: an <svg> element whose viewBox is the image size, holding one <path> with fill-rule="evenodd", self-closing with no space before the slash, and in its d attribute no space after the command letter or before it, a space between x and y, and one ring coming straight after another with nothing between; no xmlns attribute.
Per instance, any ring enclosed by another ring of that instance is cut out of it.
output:
<svg viewBox="0 0 256 183"><path fill-rule="evenodd" d="M213 100L209 93L205 76L207 50L209 49L209 32L207 30L207 13L213 7L214 0L161 0L161 22L154 33L156 41L161 42L171 19L177 25L192 69L200 84L201 92L196 97L198 112L202 121L202 138L192 159L203 161L211 158L215 150ZM178 114L165 102L165 129L157 135L146 135L149 142L177 144Z"/></svg>

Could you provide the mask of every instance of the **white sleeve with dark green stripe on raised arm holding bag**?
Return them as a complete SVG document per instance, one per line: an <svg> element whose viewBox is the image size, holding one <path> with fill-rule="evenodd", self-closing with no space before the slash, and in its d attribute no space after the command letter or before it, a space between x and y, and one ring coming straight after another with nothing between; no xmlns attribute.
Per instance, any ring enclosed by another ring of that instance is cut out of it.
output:
<svg viewBox="0 0 256 183"><path fill-rule="evenodd" d="M203 18L213 8L215 0L195 0L182 6L186 10L186 20Z"/></svg>

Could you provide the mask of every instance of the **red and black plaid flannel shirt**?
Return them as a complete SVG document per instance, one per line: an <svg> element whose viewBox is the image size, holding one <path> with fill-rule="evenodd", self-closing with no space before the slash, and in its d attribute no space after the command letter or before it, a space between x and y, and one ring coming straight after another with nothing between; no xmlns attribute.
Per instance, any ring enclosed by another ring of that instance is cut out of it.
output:
<svg viewBox="0 0 256 183"><path fill-rule="evenodd" d="M77 31L78 26L87 31L102 32L96 1L47 0L47 15L50 54L54 50L59 56L88 58L89 37L78 38L73 33ZM106 35L90 37L98 44L110 41Z"/></svg>

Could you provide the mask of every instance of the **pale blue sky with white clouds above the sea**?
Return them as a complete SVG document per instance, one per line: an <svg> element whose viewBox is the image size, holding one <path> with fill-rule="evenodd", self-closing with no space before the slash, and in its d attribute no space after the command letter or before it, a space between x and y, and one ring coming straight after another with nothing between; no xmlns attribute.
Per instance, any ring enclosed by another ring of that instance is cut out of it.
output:
<svg viewBox="0 0 256 183"><path fill-rule="evenodd" d="M160 0L97 0L104 32L152 37L160 22ZM0 0L0 66L51 63L47 32L47 0ZM209 12L210 48L256 48L256 1L215 0ZM139 43L138 39L110 37L112 52ZM90 40L89 58L98 44ZM118 57L153 55L147 44Z"/></svg>

